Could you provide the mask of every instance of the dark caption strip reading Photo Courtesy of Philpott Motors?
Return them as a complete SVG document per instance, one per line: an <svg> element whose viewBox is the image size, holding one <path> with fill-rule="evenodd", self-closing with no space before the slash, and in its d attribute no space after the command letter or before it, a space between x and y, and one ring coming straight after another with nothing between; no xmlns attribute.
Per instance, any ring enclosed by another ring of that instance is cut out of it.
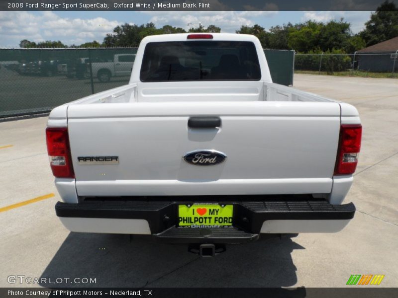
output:
<svg viewBox="0 0 398 298"><path fill-rule="evenodd" d="M1 288L1 298L391 298L397 288Z"/></svg>

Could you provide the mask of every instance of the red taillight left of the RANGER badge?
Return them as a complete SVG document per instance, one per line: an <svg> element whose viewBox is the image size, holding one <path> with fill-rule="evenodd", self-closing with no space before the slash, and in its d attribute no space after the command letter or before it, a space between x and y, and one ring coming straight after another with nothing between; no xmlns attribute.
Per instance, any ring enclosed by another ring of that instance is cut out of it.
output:
<svg viewBox="0 0 398 298"><path fill-rule="evenodd" d="M68 129L66 127L48 127L46 139L53 175L61 178L75 178L69 148Z"/></svg>

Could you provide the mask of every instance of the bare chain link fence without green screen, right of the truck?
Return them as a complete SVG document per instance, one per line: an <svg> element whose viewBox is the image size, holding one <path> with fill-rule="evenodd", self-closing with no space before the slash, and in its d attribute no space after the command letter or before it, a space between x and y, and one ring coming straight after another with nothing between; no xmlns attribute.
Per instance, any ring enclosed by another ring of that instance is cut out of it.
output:
<svg viewBox="0 0 398 298"><path fill-rule="evenodd" d="M392 53L296 54L296 71L398 73L398 50Z"/></svg>

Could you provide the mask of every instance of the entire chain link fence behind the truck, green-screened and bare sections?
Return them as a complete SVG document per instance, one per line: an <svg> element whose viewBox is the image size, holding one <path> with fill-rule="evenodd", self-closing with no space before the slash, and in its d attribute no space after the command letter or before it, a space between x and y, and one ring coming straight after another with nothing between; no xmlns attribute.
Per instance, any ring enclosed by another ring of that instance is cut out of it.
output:
<svg viewBox="0 0 398 298"><path fill-rule="evenodd" d="M0 118L47 113L66 102L127 84L137 48L0 49ZM318 74L390 73L395 53L296 54L264 50L274 82L294 70Z"/></svg>

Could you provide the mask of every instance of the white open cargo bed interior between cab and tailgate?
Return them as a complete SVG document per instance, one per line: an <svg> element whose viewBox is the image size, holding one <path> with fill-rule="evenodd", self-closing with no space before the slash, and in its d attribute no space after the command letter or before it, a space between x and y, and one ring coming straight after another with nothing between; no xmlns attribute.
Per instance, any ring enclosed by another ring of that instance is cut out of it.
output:
<svg viewBox="0 0 398 298"><path fill-rule="evenodd" d="M164 85L164 84L163 84ZM133 83L69 103L134 103L134 102L190 102L190 101L299 101L337 102L316 94L271 82L168 82L164 87L159 83Z"/></svg>

